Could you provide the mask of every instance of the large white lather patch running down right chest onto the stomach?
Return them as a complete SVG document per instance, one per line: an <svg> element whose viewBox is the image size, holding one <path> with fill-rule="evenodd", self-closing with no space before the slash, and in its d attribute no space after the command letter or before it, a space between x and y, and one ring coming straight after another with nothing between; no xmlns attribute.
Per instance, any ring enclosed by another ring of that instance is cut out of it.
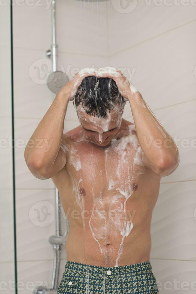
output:
<svg viewBox="0 0 196 294"><path fill-rule="evenodd" d="M108 199L108 201L110 202L110 211L114 211L115 213L111 218L108 219L108 216L105 214L104 211L102 199L95 198L91 219L89 221L89 226L91 228L93 238L99 244L100 251L105 256L105 260L107 260L107 252L104 251L104 247L102 247L101 244L105 240L105 238L107 238L107 234L110 234L110 232L112 231L114 234L116 232L117 235L119 232L122 236L120 247L118 249L116 257L116 266L118 266L118 260L123 252L124 239L130 234L131 230L133 229L132 219L130 219L130 216L127 215L126 212L126 202L134 192L134 182L136 182L139 175L143 173L143 170L140 168L140 166L144 167L144 164L141 160L142 150L138 144L136 135L132 134L132 130L134 131L133 125L130 126L130 129L125 132L125 137L122 137L119 140L114 139L112 145L105 149L106 171L108 170L108 168L112 169L113 167L111 156L115 156L116 158L118 158L118 168L116 172L117 178L114 179L113 176L110 176L110 172L107 173L108 191L116 191L114 193L114 196ZM130 152L128 151L128 149L130 150ZM129 164L128 161L128 158L130 156L132 156L132 166ZM120 167L122 166L129 170L130 176L128 179L126 179L126 184L122 181L122 178L120 178ZM92 195L94 195L93 189ZM123 217L122 211L121 217L119 217L120 208L121 210L123 210Z"/></svg>

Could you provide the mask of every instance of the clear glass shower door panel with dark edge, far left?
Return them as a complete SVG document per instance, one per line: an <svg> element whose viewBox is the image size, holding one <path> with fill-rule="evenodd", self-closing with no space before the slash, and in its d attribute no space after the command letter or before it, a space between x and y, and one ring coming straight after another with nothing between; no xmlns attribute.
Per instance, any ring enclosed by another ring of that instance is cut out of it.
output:
<svg viewBox="0 0 196 294"><path fill-rule="evenodd" d="M15 294L11 13L0 4L0 292Z"/></svg>

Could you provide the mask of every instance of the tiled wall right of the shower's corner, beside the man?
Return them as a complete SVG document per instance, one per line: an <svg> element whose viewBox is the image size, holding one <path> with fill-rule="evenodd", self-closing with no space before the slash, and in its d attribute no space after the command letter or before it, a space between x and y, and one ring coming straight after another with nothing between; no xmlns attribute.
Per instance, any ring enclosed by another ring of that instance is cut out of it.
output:
<svg viewBox="0 0 196 294"><path fill-rule="evenodd" d="M153 214L151 263L161 294L195 293L196 6L154 3L138 1L132 12L122 13L126 9L117 1L108 2L109 64L134 73L132 83L178 139L180 165L162 178ZM129 105L125 118L132 120Z"/></svg>

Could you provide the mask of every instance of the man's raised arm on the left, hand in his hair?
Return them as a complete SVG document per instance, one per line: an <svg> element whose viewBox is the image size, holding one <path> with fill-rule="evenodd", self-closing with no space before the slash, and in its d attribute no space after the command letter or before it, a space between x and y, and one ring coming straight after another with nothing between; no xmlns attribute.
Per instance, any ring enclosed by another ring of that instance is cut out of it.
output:
<svg viewBox="0 0 196 294"><path fill-rule="evenodd" d="M64 119L67 105L73 100L82 80L92 75L79 73L68 82L56 95L49 110L40 121L25 148L25 161L31 173L39 179L49 179L66 164L66 145L69 135L64 135Z"/></svg>

